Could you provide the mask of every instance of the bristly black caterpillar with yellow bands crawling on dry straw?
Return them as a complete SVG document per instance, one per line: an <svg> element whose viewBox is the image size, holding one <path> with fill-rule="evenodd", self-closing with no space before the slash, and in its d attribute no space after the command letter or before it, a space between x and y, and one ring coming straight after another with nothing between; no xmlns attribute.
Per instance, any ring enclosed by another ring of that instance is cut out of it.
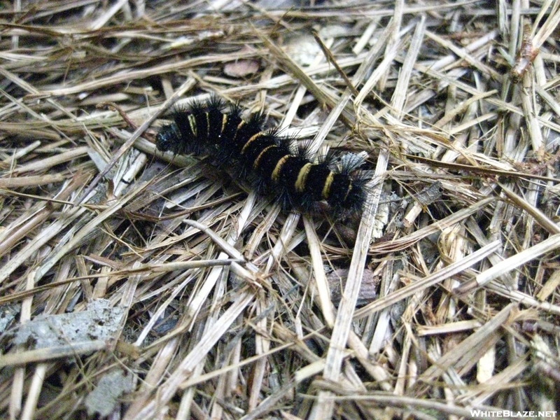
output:
<svg viewBox="0 0 560 420"><path fill-rule="evenodd" d="M279 197L284 208L308 213L325 201L334 214L362 210L367 179L356 169L363 157L327 153L315 163L308 146L295 146L293 138L278 130L262 130L262 114L243 120L239 104L225 109L217 97L176 108L174 122L155 137L156 147L175 154L209 155L218 167L234 167L258 193Z"/></svg>

